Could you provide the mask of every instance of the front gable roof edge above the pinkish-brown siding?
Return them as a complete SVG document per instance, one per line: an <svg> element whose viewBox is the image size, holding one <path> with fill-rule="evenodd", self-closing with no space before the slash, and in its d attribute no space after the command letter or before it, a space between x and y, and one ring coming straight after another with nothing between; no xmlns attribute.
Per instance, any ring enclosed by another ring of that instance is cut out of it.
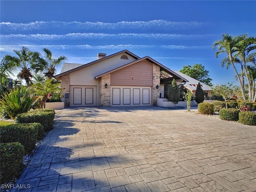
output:
<svg viewBox="0 0 256 192"><path fill-rule="evenodd" d="M177 74L177 73L175 73L174 71L170 70L170 69L167 68L166 66L164 66L164 65L162 65L162 64L160 64L160 63L158 63L156 60L150 58L149 56L146 56L146 57L137 59L137 60L135 60L135 61L133 61L133 62L130 62L130 63L128 63L128 64L125 64L125 65L123 65L123 66L120 66L120 67L118 67L118 68L115 68L115 69L113 69L113 70L110 70L110 71L107 71L107 72L105 72L105 73L99 74L99 75L95 76L94 79L96 80L96 79L98 79L98 78L100 78L100 77L102 77L102 76L104 76L104 75L106 75L106 74L110 74L110 73L115 72L115 71L117 71L117 70L120 70L120 69L122 69L122 68L128 67L128 66L130 66L130 65L132 65L132 64L138 63L138 62L140 62L140 61L142 61L142 60L148 60L149 62L154 63L154 64L156 64L157 66L159 66L159 67L160 67L160 71L164 70L164 71L166 71L166 72L168 72L168 73L170 73L170 74L172 74L172 75L174 75L174 76L176 76L176 77L182 79L184 82L188 82L188 80L186 80L186 78L183 78L183 77L180 76L179 74Z"/></svg>

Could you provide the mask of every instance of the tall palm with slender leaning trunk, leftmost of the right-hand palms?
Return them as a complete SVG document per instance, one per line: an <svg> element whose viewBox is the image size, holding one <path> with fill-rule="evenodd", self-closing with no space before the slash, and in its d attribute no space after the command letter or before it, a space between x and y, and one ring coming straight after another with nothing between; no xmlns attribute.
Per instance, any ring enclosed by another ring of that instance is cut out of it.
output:
<svg viewBox="0 0 256 192"><path fill-rule="evenodd" d="M236 67L234 65L234 60L233 60L233 54L236 51L234 48L236 46L236 44L238 44L238 42L240 42L242 40L241 36L235 36L234 38L229 35L229 34L222 34L222 40L217 40L213 43L212 45L212 49L215 49L216 46L218 46L218 50L215 53L215 57L218 58L218 56L222 53L226 53L227 56L229 57L230 60L230 64L232 66L232 68L234 69L234 72L237 76L239 85L240 85L240 89L242 92L242 97L244 100L246 100L245 97L245 93L244 93L244 88L241 82L241 79L239 78L239 74L236 70Z"/></svg>

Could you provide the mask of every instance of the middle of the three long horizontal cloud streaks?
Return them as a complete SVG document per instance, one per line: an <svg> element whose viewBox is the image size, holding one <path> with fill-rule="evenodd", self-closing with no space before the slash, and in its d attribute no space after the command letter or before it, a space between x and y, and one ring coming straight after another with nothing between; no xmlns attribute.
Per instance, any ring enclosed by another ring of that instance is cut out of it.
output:
<svg viewBox="0 0 256 192"><path fill-rule="evenodd" d="M68 33L64 35L57 34L9 34L0 35L2 39L26 38L26 40L59 40L59 39L131 39L131 38L150 38L150 39L202 39L210 38L213 34L163 34L163 33L150 33L150 34L137 34L137 33L120 33L120 34L105 34L105 33Z"/></svg>

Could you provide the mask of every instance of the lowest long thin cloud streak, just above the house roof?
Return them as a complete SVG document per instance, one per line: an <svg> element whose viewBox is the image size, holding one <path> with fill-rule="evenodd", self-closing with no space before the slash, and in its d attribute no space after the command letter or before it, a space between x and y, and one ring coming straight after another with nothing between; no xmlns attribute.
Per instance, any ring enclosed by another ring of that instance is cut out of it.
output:
<svg viewBox="0 0 256 192"><path fill-rule="evenodd" d="M10 51L14 49L20 49L22 46L27 48L56 48L56 49L88 49L88 50L99 50L99 49L132 49L132 48L157 48L157 49L209 49L211 46L184 46L184 45L2 45L0 51Z"/></svg>

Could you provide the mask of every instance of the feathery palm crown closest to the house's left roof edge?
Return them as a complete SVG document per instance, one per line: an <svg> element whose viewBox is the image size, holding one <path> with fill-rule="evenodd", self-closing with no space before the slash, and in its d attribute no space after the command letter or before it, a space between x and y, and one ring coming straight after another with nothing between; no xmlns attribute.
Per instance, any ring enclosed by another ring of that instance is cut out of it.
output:
<svg viewBox="0 0 256 192"><path fill-rule="evenodd" d="M38 66L35 66L36 72L43 71L45 76L48 78L53 78L56 72L56 67L60 66L60 64L67 60L65 56L60 57L52 57L52 52L47 49L43 48L44 51L44 58L40 58L40 62Z"/></svg>

